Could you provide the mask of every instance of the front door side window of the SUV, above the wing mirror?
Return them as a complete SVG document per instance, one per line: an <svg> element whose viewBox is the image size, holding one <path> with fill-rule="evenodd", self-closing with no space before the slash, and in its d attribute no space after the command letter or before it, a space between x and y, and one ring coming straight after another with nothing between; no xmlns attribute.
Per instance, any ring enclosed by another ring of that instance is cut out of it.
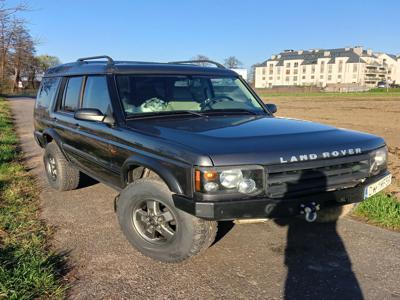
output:
<svg viewBox="0 0 400 300"><path fill-rule="evenodd" d="M105 76L90 76L86 79L83 108L97 108L103 114L111 113L111 100Z"/></svg>

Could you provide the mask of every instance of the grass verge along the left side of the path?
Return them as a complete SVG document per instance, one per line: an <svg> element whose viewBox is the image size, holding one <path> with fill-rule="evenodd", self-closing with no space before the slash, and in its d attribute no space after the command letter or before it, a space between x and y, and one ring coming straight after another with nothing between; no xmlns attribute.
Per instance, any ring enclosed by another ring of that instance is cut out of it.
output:
<svg viewBox="0 0 400 300"><path fill-rule="evenodd" d="M63 255L49 250L37 187L20 162L8 104L0 98L0 299L61 299Z"/></svg>

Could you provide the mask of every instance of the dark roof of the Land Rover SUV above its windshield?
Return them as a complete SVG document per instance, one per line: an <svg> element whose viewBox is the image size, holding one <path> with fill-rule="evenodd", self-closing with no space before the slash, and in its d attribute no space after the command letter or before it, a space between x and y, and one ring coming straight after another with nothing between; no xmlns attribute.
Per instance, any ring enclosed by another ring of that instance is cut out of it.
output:
<svg viewBox="0 0 400 300"><path fill-rule="evenodd" d="M220 75L237 76L223 67L199 66L195 63L159 63L136 61L76 61L50 68L45 76L74 76L95 74L159 74L159 75Z"/></svg>

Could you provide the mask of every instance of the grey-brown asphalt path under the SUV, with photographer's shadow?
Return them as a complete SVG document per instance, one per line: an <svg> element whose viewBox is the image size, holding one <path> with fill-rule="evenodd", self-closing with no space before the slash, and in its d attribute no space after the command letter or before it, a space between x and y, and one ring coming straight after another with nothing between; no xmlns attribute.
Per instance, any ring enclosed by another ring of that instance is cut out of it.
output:
<svg viewBox="0 0 400 300"><path fill-rule="evenodd" d="M70 192L47 187L32 138L33 104L11 101L26 165L38 176L42 218L55 228L54 248L73 265L70 298L400 298L400 234L351 219L236 225L178 265L142 256L118 228L115 191L99 183Z"/></svg>

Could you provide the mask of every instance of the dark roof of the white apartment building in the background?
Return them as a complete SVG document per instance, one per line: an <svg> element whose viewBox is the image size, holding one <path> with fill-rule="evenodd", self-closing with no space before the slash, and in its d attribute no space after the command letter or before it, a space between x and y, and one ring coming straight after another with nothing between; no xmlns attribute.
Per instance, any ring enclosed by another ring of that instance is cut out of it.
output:
<svg viewBox="0 0 400 300"><path fill-rule="evenodd" d="M362 49L362 48L361 48ZM359 51L359 50L358 50ZM328 64L335 63L337 57L347 57L348 63L365 62L363 57L376 57L374 53L361 50L361 55L358 54L355 48L337 48L337 49L313 49L313 50L287 50L279 53L279 55L273 56L266 60L263 64L271 61L278 61L277 66L283 66L285 60L303 60L302 65L316 64L318 59L328 58Z"/></svg>

